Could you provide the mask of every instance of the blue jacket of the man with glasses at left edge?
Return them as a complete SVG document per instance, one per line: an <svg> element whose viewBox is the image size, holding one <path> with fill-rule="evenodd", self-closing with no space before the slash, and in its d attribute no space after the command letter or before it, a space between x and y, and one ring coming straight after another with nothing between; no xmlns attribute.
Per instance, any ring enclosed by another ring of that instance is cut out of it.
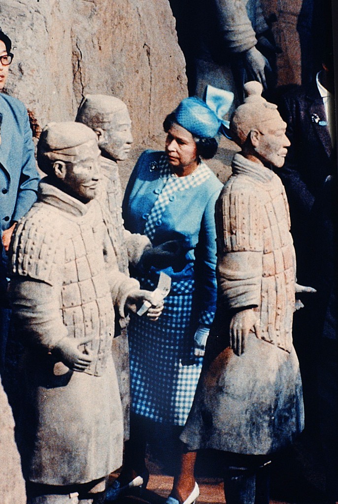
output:
<svg viewBox="0 0 338 504"><path fill-rule="evenodd" d="M0 219L3 231L31 208L40 177L25 105L0 93L0 113L3 114L0 131Z"/></svg>

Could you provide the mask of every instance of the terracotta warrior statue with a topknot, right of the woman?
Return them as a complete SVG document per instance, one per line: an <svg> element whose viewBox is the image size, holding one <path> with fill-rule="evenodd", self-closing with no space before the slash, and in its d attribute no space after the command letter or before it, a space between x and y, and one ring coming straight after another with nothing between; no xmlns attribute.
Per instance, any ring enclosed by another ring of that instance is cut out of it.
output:
<svg viewBox="0 0 338 504"><path fill-rule="evenodd" d="M257 82L230 129L242 151L216 203L218 299L194 404L181 439L219 450L227 504L267 504L272 455L304 425L292 343L296 261L283 184L286 123Z"/></svg>

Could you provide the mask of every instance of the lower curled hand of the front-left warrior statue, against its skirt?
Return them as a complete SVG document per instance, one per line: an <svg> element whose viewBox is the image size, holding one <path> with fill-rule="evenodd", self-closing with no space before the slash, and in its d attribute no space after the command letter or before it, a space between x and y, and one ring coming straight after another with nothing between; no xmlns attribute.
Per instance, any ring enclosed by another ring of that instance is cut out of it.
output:
<svg viewBox="0 0 338 504"><path fill-rule="evenodd" d="M84 353L79 349L79 346L85 345L89 341L91 339L68 338L68 336L65 336L54 346L52 353L60 357L60 360L73 371L82 372L89 366L93 358L87 349Z"/></svg>

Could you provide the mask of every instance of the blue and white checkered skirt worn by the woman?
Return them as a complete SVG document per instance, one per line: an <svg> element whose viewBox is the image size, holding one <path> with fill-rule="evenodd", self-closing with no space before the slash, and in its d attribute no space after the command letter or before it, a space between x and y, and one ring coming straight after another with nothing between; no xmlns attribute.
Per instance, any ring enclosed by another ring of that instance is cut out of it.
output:
<svg viewBox="0 0 338 504"><path fill-rule="evenodd" d="M184 425L192 406L203 360L193 355L193 291L193 280L173 283L156 322L131 316L131 409L155 422Z"/></svg>

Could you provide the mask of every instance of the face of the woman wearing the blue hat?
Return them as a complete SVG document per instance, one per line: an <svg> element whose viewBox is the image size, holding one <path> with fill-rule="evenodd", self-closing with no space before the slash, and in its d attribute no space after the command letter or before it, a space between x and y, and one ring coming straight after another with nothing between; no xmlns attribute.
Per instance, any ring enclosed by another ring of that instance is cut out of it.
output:
<svg viewBox="0 0 338 504"><path fill-rule="evenodd" d="M165 153L176 172L188 174L198 164L196 142L192 134L179 124L174 123L167 132Z"/></svg>

